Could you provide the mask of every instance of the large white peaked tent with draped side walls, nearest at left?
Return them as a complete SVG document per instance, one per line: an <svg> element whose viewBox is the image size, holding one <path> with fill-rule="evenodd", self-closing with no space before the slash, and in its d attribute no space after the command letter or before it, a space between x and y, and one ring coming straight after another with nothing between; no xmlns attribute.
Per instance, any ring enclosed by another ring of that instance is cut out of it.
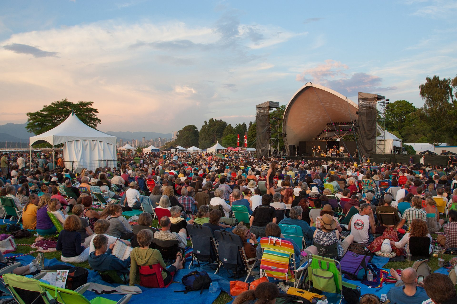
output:
<svg viewBox="0 0 457 304"><path fill-rule="evenodd" d="M74 112L54 129L30 138L31 146L42 143L53 146L64 144L65 167L73 170L116 167L116 142L116 136L90 128Z"/></svg>

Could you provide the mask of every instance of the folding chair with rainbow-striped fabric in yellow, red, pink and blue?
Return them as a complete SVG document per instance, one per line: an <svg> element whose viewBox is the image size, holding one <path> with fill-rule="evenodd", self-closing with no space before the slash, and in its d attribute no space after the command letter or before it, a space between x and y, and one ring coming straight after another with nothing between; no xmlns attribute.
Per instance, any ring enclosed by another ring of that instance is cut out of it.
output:
<svg viewBox="0 0 457 304"><path fill-rule="evenodd" d="M295 260L292 242L277 237L262 237L260 247L263 254L260 261L260 278L264 276L293 282L300 285L298 278L299 262Z"/></svg>

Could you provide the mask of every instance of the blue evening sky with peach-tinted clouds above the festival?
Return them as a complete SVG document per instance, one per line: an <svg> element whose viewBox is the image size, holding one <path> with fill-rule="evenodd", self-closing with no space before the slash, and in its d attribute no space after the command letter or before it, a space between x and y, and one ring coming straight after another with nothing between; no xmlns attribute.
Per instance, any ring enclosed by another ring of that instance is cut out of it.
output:
<svg viewBox="0 0 457 304"><path fill-rule="evenodd" d="M457 1L0 1L0 121L68 98L101 131L255 120L306 82L423 101L457 74ZM312 109L303 109L303 119Z"/></svg>

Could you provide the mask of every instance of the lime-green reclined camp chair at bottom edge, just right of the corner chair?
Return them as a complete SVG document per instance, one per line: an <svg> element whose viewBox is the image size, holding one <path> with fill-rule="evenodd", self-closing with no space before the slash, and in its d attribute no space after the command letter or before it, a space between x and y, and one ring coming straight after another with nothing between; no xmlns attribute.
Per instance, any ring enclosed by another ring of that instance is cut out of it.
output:
<svg viewBox="0 0 457 304"><path fill-rule="evenodd" d="M95 299L88 300L82 294L89 288L89 283L85 283L84 285L80 286L79 289L70 290L59 288L53 285L49 285L43 282L40 282L40 287L42 289L43 298L44 294L50 299L54 299L58 303L65 303L65 304L127 304L128 301L132 298L132 294L125 295L119 301L113 301L110 299L106 299L103 297L96 297Z"/></svg>

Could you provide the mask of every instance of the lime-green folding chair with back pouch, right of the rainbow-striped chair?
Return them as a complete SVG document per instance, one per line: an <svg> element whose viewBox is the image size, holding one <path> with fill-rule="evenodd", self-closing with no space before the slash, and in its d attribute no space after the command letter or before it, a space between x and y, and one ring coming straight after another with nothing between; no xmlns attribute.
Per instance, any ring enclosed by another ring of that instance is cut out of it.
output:
<svg viewBox="0 0 457 304"><path fill-rule="evenodd" d="M335 285L333 285L333 283L332 283L332 284L326 284L326 285L323 285L323 286L320 286L319 288L317 288L317 285L312 283L314 280L314 276L317 279L322 274L324 274L325 277L327 277L329 274L332 274ZM344 282L341 279L341 277L342 277L341 264L340 264L340 262L338 262L338 260L320 257L320 256L314 255L314 254L308 255L309 289L311 289L311 287L314 287L316 289L319 289L319 290L325 291L325 292L329 292L329 293L335 293L335 291L336 291L336 294L340 294L340 304L341 304L341 301L343 300L343 286L349 287L351 289L359 289L359 287L357 287L354 284ZM331 288L333 286L335 286L336 290L335 289L331 290Z"/></svg>

